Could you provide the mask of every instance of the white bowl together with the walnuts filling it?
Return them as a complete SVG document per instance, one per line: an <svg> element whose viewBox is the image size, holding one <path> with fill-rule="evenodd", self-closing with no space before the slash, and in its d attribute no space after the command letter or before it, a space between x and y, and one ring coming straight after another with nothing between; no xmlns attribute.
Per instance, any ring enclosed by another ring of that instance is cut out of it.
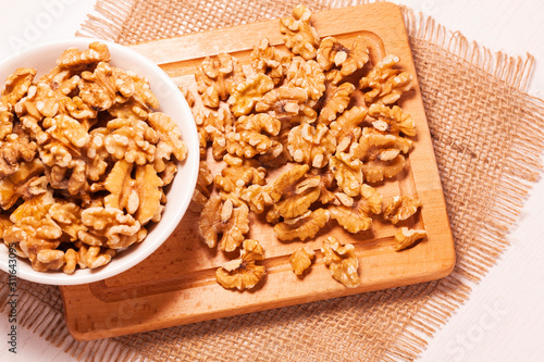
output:
<svg viewBox="0 0 544 362"><path fill-rule="evenodd" d="M0 269L76 285L159 248L199 166L195 122L170 77L128 48L69 39L1 62L0 79Z"/></svg>

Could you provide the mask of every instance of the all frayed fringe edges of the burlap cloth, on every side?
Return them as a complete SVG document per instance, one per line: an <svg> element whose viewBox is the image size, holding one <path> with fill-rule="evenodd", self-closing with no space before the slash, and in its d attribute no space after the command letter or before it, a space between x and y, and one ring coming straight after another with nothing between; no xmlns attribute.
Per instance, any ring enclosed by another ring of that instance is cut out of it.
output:
<svg viewBox="0 0 544 362"><path fill-rule="evenodd" d="M123 32L123 24L131 17L132 1L99 0L96 12L82 25L79 36L91 36L115 41ZM530 78L533 58L511 58L502 52L493 53L475 42L469 42L461 34L450 33L445 27L436 24L431 17L416 14L403 8L406 26L410 41L426 41L441 47L458 61L479 66L481 70L494 75L510 87L519 91L527 89ZM456 265L454 273L437 282L436 292L430 295L422 307L413 313L413 317L406 324L400 337L392 341L384 360L415 359L419 355L428 340L444 325L455 310L467 300L471 287L479 282L495 264L498 255L508 246L506 235L509 227L518 219L523 201L542 168L540 157L543 149L541 127L544 125L544 102L540 99L523 95L526 112L524 118L519 121L519 137L514 140L510 163L517 168L504 175L500 192L497 192L495 209L492 214L496 222L479 235L485 253L479 249L469 250L463 259ZM516 162L514 162L516 161ZM0 274L0 312L7 313L8 275ZM40 299L40 294L32 290L33 285L21 280L26 290L20 292L18 324L30 329L34 334L45 338L53 346L63 349L66 353L85 361L138 361L143 360L129 346L115 340L103 339L89 342L74 340L65 326L62 308L51 307ZM57 288L42 287L49 292L51 299L59 299ZM49 288L49 289L48 289ZM54 304L54 303L53 303ZM51 327L53 326L53 327Z"/></svg>

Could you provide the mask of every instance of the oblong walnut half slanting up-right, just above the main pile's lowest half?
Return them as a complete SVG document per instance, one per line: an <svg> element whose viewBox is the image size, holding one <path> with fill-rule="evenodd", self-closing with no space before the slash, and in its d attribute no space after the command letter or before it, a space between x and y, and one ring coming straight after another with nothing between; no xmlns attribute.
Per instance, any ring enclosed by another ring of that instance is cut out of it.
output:
<svg viewBox="0 0 544 362"><path fill-rule="evenodd" d="M279 222L280 216L287 220L306 213L321 194L319 187L321 176L310 176L300 180L292 190L285 190L282 200L275 202L267 213L267 221L271 224Z"/></svg>

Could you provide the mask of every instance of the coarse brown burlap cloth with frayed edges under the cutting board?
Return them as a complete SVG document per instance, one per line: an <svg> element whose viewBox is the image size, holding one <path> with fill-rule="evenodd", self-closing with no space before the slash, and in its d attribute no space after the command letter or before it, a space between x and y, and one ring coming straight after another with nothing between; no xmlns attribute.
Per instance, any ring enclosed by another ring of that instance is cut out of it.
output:
<svg viewBox="0 0 544 362"><path fill-rule="evenodd" d="M300 1L296 1L297 3ZM314 11L348 1L302 1ZM295 1L99 0L78 35L121 43L286 15ZM84 360L412 360L507 247L540 174L544 102L532 58L469 43L404 9L457 247L441 280L92 342L67 334L58 288L20 280L21 325ZM5 310L7 275L0 274ZM7 311L4 311L7 313Z"/></svg>

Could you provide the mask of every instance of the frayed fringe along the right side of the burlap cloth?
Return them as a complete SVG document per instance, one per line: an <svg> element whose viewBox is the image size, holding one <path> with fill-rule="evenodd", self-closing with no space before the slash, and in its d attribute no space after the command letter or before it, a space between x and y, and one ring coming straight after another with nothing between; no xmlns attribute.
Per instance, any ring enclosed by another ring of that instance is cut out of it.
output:
<svg viewBox="0 0 544 362"><path fill-rule="evenodd" d="M446 49L461 62L479 66L493 74L517 90L524 91L531 74L533 57L527 54L511 58L503 52L493 53L469 42L460 33L448 32L432 17L401 7L405 24L410 38L420 39ZM510 161L512 168L505 170L500 187L495 191L497 200L490 212L486 226L479 235L478 248L463 250L454 273L437 285L437 292L413 313L410 323L386 352L384 360L397 361L416 359L426 347L429 338L442 327L453 313L468 299L471 287L481 280L496 263L500 253L509 245L506 234L508 227L518 219L531 185L537 180L542 171L541 150L544 145L544 102L529 95L523 95L523 107L529 111L519 120L518 135L514 140ZM490 202L493 204L493 202Z"/></svg>

